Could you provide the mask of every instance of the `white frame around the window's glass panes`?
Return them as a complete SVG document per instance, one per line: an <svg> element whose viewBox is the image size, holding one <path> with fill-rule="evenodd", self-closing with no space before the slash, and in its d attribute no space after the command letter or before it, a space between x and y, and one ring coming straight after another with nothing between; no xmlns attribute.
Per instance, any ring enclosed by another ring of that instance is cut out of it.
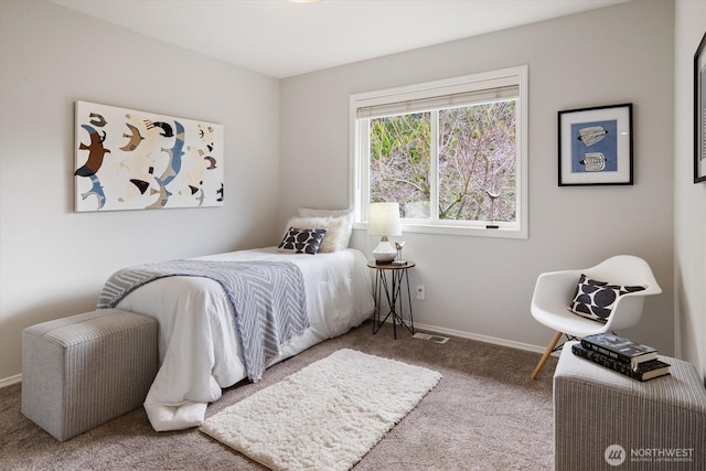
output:
<svg viewBox="0 0 706 471"><path fill-rule="evenodd" d="M504 68L462 77L443 81L427 82L422 84L409 85L397 88L388 88L376 92L354 94L350 97L350 206L355 208L355 228L367 228L367 208L370 207L368 188L368 150L370 136L367 132L360 132L359 109L381 104L394 104L420 97L442 97L451 94L473 93L474 90L488 89L493 84L505 84L516 82L518 87L518 98L516 103L517 133L515 144L516 152L516 221L512 223L500 223L500 228L485 228L481 222L453 221L453 220L403 220L403 231L408 233L426 234L449 234L480 237L505 237L523 238L528 237L528 202L527 202L527 66ZM432 132L432 136L435 133ZM435 139L432 137L432 139ZM434 144L434 142L432 142ZM362 149L365 149L363 152ZM367 159L363 161L362 156ZM436 179L436 165L432 165L430 178ZM431 208L430 217L436 218L438 208Z"/></svg>

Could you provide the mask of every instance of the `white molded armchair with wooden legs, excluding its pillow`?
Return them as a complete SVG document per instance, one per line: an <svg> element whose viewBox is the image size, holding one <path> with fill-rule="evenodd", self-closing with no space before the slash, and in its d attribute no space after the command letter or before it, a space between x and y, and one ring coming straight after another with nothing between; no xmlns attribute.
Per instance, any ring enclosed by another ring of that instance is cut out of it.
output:
<svg viewBox="0 0 706 471"><path fill-rule="evenodd" d="M644 286L645 289L619 297L608 321L598 322L582 318L567 309L576 293L581 274L599 281L622 286L639 285ZM632 328L640 322L642 317L644 297L661 292L662 288L654 279L648 263L632 255L617 255L591 268L539 275L532 297L532 317L557 332L532 373L532 378L537 377L563 334L581 339L596 333Z"/></svg>

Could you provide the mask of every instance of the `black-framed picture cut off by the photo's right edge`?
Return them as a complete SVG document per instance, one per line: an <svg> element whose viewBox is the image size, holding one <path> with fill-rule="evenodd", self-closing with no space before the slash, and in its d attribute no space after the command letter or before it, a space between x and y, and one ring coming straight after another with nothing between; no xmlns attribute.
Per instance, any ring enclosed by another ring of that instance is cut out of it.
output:
<svg viewBox="0 0 706 471"><path fill-rule="evenodd" d="M694 183L706 182L706 33L694 54Z"/></svg>

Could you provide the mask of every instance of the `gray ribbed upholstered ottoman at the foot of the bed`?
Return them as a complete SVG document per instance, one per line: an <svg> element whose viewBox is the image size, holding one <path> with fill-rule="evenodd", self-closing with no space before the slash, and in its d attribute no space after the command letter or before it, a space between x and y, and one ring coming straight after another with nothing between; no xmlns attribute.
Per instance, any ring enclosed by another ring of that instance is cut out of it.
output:
<svg viewBox="0 0 706 471"><path fill-rule="evenodd" d="M142 405L157 375L157 320L119 309L22 332L22 414L64 441Z"/></svg>

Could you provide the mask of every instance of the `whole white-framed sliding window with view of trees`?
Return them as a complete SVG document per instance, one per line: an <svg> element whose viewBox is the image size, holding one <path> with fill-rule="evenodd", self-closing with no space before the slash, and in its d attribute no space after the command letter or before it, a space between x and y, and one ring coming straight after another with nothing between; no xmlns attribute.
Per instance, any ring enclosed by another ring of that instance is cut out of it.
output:
<svg viewBox="0 0 706 471"><path fill-rule="evenodd" d="M352 200L407 232L527 237L527 67L351 97Z"/></svg>

